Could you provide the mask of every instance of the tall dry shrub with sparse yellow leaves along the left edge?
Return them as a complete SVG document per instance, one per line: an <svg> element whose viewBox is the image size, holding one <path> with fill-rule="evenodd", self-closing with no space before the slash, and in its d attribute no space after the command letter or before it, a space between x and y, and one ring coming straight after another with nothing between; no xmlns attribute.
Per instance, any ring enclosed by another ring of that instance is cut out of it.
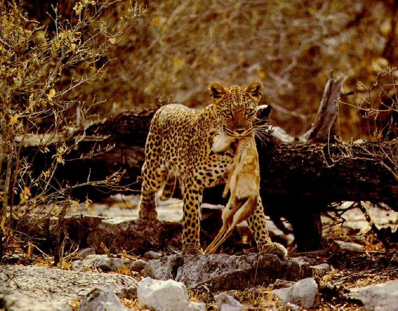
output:
<svg viewBox="0 0 398 311"><path fill-rule="evenodd" d="M103 75L109 61L103 55L143 12L138 5L124 4L123 15L104 19L104 12L117 2L78 0L69 19L52 7L48 12L52 30L29 20L21 3L0 2L0 258L29 238L12 230L12 219L32 224L55 215L61 230L69 207L80 204L70 192L81 185L55 181L54 173L64 164L65 155L84 139L84 128L90 125L90 106L76 91ZM70 140L78 129L83 129L82 134ZM48 153L54 144L51 165L33 174L31 159L20 156L22 146L33 145L37 152ZM94 185L117 187L119 179L116 172ZM5 219L7 207L9 221Z"/></svg>

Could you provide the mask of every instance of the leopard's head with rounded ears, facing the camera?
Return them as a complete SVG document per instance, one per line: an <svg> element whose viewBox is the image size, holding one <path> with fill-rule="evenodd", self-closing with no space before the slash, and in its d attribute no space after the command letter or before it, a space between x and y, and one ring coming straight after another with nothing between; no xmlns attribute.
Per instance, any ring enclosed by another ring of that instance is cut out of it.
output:
<svg viewBox="0 0 398 311"><path fill-rule="evenodd" d="M208 87L211 101L223 131L233 137L249 136L253 132L257 104L261 99L263 84L255 81L247 88L224 88L218 83Z"/></svg>

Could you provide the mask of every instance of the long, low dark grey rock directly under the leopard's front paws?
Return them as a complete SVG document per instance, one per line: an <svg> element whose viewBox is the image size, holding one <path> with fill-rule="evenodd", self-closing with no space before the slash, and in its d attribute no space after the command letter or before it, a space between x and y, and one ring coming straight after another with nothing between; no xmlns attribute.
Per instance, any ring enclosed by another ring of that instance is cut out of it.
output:
<svg viewBox="0 0 398 311"><path fill-rule="evenodd" d="M207 284L214 290L231 290L268 285L278 278L302 279L310 276L310 269L309 264L301 259L281 261L272 254L171 255L148 261L142 274L159 280L173 279L188 288Z"/></svg>

